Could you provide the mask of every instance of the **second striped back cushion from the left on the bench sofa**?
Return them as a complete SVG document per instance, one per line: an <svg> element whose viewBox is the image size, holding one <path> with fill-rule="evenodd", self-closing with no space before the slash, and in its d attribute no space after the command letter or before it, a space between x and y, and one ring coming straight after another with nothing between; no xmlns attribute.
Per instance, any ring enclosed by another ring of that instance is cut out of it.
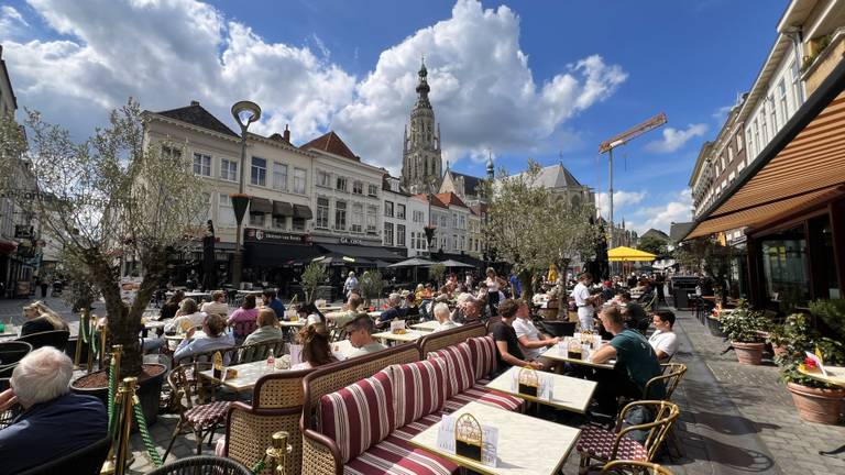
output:
<svg viewBox="0 0 845 475"><path fill-rule="evenodd" d="M441 358L392 365L396 427L440 411L446 402L446 363Z"/></svg>

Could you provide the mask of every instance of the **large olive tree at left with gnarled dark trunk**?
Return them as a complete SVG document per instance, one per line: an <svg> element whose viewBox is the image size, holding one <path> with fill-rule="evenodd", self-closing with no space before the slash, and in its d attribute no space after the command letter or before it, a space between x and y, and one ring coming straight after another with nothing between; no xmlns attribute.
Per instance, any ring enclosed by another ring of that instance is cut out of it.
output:
<svg viewBox="0 0 845 475"><path fill-rule="evenodd" d="M101 294L109 340L125 352L121 376L136 375L141 317L165 276L167 256L194 245L206 219L186 146L145 143L144 119L132 99L84 142L28 111L25 141L18 159L28 164L25 179L35 192L19 205L36 217L68 263L81 266L75 274ZM7 169L15 158L3 156ZM139 264L141 283L134 298L124 300L121 264L128 261Z"/></svg>

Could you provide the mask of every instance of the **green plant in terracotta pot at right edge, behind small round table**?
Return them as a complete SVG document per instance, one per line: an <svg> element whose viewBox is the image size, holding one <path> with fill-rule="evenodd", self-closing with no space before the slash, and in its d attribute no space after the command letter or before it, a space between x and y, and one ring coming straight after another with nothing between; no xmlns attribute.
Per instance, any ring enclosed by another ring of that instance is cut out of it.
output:
<svg viewBox="0 0 845 475"><path fill-rule="evenodd" d="M798 415L809 422L835 424L839 419L845 388L822 383L800 372L806 368L806 352L822 355L825 364L845 363L843 343L821 336L813 330L805 314L793 313L783 324L786 352L776 357L780 379L787 384Z"/></svg>

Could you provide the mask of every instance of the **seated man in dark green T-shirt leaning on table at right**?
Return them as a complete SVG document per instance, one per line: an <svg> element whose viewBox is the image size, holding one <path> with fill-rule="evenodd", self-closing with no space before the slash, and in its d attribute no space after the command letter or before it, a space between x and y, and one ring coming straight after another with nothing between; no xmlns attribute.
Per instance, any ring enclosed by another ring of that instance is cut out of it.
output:
<svg viewBox="0 0 845 475"><path fill-rule="evenodd" d="M600 410L608 416L617 411L616 397L627 396L634 399L662 399L666 388L652 386L650 394L644 395L646 384L655 376L660 376L661 368L657 355L641 333L625 328L619 308L606 306L599 313L605 330L613 334L613 340L604 344L590 356L593 363L607 363L616 360L614 371L596 372L597 387L595 399Z"/></svg>

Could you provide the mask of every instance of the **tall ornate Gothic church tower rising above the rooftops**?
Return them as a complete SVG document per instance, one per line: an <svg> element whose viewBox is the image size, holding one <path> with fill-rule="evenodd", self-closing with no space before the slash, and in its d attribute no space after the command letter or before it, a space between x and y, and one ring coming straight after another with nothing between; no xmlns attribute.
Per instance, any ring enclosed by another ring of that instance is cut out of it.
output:
<svg viewBox="0 0 845 475"><path fill-rule="evenodd" d="M402 185L411 194L436 192L442 178L440 125L435 125L435 111L428 100L428 70L419 68L417 103L410 112L410 130L405 128L402 148Z"/></svg>

